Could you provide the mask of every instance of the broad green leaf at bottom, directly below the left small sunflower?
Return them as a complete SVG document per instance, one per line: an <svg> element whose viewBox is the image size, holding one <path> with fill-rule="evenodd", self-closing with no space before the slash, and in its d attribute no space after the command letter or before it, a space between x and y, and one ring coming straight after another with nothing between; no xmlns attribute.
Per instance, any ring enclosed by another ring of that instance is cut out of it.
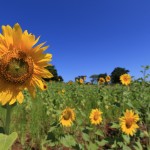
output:
<svg viewBox="0 0 150 150"><path fill-rule="evenodd" d="M76 141L71 135L65 135L65 137L62 137L60 139L60 143L66 147L72 147L76 145Z"/></svg>

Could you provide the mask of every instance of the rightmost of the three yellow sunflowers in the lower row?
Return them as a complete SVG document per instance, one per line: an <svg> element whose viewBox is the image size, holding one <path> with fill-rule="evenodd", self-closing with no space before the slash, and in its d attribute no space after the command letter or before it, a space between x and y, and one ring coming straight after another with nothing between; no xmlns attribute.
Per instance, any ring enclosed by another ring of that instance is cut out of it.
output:
<svg viewBox="0 0 150 150"><path fill-rule="evenodd" d="M134 114L132 110L126 110L124 116L119 118L122 132L133 136L139 126L136 124L139 121L138 114Z"/></svg>

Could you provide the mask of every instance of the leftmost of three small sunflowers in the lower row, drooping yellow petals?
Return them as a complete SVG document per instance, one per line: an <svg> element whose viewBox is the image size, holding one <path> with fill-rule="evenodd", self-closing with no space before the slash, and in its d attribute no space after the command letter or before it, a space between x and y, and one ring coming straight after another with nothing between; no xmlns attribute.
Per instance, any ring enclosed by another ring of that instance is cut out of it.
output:
<svg viewBox="0 0 150 150"><path fill-rule="evenodd" d="M70 127L74 120L75 120L74 110L69 107L64 109L60 116L60 123L63 126Z"/></svg>

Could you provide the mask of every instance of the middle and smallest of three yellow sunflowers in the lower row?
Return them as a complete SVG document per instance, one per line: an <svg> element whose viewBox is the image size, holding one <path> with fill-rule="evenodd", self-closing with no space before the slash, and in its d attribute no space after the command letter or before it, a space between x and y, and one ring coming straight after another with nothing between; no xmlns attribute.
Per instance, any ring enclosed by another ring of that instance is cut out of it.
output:
<svg viewBox="0 0 150 150"><path fill-rule="evenodd" d="M91 120L91 124L100 124L102 122L102 116L101 116L102 112L98 109L92 109L91 113L90 113L90 120Z"/></svg>

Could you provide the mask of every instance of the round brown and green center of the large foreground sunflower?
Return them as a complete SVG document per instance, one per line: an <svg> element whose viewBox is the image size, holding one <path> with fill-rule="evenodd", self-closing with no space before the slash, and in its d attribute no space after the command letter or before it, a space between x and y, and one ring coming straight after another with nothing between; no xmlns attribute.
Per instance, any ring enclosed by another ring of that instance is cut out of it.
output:
<svg viewBox="0 0 150 150"><path fill-rule="evenodd" d="M0 75L10 83L23 84L33 74L33 61L22 51L8 52L0 59Z"/></svg>

